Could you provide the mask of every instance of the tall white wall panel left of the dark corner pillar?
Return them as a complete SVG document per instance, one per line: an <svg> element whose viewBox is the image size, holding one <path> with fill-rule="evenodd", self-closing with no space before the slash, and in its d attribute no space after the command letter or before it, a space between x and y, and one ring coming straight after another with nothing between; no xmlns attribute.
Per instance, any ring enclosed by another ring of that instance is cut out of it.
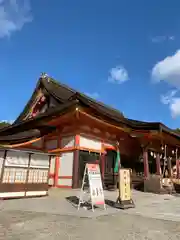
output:
<svg viewBox="0 0 180 240"><path fill-rule="evenodd" d="M72 176L74 152L62 153L60 156L60 166L58 176Z"/></svg>

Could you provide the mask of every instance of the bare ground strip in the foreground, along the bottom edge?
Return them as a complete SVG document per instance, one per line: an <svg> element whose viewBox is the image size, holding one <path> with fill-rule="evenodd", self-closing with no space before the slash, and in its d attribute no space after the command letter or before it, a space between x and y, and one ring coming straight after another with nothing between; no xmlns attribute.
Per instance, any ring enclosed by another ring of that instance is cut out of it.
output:
<svg viewBox="0 0 180 240"><path fill-rule="evenodd" d="M0 240L178 240L179 222L124 212L114 216L77 218L59 214L3 211Z"/></svg>

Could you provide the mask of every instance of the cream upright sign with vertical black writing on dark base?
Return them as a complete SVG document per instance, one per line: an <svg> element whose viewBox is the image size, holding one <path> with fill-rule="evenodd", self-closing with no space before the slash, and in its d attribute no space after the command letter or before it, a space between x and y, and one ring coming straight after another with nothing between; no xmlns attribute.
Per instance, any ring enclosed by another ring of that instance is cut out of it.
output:
<svg viewBox="0 0 180 240"><path fill-rule="evenodd" d="M135 204L131 198L130 169L119 169L119 196L115 203L116 208L134 208Z"/></svg>

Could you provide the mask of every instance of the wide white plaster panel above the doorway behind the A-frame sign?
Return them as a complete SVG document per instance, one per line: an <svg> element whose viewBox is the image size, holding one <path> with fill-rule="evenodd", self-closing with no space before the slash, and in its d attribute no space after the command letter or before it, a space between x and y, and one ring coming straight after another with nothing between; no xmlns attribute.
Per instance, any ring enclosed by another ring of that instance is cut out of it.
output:
<svg viewBox="0 0 180 240"><path fill-rule="evenodd" d="M80 147L101 150L102 143L100 140L91 139L89 137L80 136L79 140Z"/></svg>

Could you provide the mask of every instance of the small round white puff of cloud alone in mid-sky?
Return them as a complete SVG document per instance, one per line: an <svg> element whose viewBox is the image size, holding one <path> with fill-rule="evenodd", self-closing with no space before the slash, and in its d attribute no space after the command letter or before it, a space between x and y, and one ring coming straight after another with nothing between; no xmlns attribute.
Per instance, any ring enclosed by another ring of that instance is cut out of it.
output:
<svg viewBox="0 0 180 240"><path fill-rule="evenodd" d="M109 72L109 82L123 83L129 80L128 71L123 66L112 68Z"/></svg>

